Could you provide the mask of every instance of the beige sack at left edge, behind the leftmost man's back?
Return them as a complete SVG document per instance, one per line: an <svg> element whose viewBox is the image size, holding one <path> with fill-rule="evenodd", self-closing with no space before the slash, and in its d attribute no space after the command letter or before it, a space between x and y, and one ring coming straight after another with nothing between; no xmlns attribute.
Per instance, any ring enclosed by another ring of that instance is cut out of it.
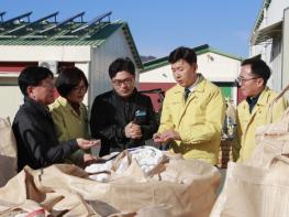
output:
<svg viewBox="0 0 289 217"><path fill-rule="evenodd" d="M16 143L9 118L0 118L0 187L16 174Z"/></svg>

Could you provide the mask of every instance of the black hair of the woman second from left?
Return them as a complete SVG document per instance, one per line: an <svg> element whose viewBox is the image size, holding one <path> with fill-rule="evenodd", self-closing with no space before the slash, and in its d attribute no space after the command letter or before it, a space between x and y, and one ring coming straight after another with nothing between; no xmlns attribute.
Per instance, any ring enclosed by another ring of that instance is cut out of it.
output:
<svg viewBox="0 0 289 217"><path fill-rule="evenodd" d="M88 88L88 80L85 73L75 66L62 67L55 80L55 87L62 97L67 97L70 91L84 80Z"/></svg>

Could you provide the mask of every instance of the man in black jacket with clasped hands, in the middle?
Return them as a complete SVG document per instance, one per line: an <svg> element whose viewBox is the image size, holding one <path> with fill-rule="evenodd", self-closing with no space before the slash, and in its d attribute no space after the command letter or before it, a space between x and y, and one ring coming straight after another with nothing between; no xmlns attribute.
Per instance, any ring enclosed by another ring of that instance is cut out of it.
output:
<svg viewBox="0 0 289 217"><path fill-rule="evenodd" d="M97 96L90 116L92 137L101 139L100 155L144 145L157 130L148 96L135 88L135 67L118 58L109 67L113 90Z"/></svg>

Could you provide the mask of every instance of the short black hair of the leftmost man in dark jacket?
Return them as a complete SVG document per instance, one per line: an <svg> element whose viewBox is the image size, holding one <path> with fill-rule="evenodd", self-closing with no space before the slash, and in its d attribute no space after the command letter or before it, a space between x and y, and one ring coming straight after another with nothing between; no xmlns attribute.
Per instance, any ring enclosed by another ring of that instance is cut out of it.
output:
<svg viewBox="0 0 289 217"><path fill-rule="evenodd" d="M29 86L37 86L40 83L48 77L53 78L53 73L42 66L25 67L18 77L18 84L21 93L27 96Z"/></svg>

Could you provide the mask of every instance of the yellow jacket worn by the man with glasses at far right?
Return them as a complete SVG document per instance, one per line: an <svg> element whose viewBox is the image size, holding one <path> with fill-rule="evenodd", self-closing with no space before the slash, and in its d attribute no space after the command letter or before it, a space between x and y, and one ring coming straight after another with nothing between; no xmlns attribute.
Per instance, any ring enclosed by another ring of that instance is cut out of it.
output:
<svg viewBox="0 0 289 217"><path fill-rule="evenodd" d="M266 87L260 94L257 104L249 113L249 106L246 100L243 100L237 106L237 138L233 144L233 156L238 162L246 161L253 153L256 143L256 128L269 123L268 107L277 93ZM273 108L273 122L280 119L282 112L288 107L285 98L278 101Z"/></svg>

